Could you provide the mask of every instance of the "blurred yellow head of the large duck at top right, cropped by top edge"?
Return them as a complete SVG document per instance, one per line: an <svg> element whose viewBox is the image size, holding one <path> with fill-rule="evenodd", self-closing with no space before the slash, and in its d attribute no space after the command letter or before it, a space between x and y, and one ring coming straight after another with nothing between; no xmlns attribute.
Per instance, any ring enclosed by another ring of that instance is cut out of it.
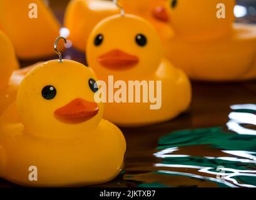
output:
<svg viewBox="0 0 256 200"><path fill-rule="evenodd" d="M218 37L232 29L234 0L168 0L167 6L170 23L180 36Z"/></svg>

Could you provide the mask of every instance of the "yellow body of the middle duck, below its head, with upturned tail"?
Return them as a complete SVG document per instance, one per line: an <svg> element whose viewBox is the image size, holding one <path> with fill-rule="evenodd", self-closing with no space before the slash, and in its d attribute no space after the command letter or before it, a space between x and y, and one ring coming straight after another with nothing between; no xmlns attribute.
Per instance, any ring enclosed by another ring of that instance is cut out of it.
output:
<svg viewBox="0 0 256 200"><path fill-rule="evenodd" d="M103 80L108 83L108 79L103 78ZM131 78L123 78L122 80L128 86ZM105 119L120 126L145 126L173 119L186 111L190 105L191 86L189 79L181 69L175 68L166 59L162 59L155 74L134 80L140 81L140 83L155 81L155 93L159 93L161 90L161 98L157 99L156 102L149 101L148 103L135 103L135 101L133 103L106 103ZM161 89L156 87L156 81L161 81ZM151 109L151 106L156 109Z"/></svg>

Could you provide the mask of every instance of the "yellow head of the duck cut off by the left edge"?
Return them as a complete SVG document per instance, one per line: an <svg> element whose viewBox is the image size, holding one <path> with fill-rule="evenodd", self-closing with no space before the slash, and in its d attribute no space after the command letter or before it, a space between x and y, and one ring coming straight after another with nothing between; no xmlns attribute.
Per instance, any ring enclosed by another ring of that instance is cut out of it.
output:
<svg viewBox="0 0 256 200"><path fill-rule="evenodd" d="M0 89L8 85L11 74L18 69L13 44L0 31Z"/></svg>

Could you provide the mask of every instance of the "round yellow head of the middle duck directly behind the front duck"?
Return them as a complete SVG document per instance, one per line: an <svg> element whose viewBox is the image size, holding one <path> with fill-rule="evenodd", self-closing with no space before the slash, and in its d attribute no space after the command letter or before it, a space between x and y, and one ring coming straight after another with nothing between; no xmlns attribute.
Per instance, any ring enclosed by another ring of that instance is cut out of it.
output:
<svg viewBox="0 0 256 200"><path fill-rule="evenodd" d="M130 14L111 16L97 24L86 50L88 64L96 73L124 79L127 73L135 78L155 72L162 56L155 28Z"/></svg>

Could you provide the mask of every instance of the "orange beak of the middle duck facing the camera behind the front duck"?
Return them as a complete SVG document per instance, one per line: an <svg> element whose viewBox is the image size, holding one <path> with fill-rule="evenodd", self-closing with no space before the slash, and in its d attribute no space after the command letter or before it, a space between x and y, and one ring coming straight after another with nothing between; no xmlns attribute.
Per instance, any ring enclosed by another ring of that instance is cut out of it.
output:
<svg viewBox="0 0 256 200"><path fill-rule="evenodd" d="M98 62L109 69L128 69L133 68L139 62L138 56L125 53L119 49L115 49L98 58Z"/></svg>

